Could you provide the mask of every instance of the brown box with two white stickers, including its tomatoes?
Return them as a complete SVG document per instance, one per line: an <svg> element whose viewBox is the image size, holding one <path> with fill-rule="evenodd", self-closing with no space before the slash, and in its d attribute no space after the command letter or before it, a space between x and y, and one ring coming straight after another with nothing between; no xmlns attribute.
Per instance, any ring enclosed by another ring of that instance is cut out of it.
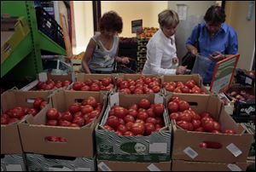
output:
<svg viewBox="0 0 256 172"><path fill-rule="evenodd" d="M234 163L245 162L253 135L236 123L213 95L169 95L172 159Z"/></svg>

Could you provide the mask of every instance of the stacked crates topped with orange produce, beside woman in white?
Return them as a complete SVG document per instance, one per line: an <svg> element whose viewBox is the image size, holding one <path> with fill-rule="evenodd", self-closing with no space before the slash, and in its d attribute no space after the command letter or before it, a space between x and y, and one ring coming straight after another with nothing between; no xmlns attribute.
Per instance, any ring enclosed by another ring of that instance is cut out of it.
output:
<svg viewBox="0 0 256 172"><path fill-rule="evenodd" d="M137 35L137 72L143 71L143 66L147 60L147 43L157 31L158 28L143 27L143 31Z"/></svg>

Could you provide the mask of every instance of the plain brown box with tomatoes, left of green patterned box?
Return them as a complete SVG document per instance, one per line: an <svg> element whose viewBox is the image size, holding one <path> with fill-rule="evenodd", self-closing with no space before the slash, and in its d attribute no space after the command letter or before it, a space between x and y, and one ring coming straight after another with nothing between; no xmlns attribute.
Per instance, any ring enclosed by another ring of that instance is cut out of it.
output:
<svg viewBox="0 0 256 172"><path fill-rule="evenodd" d="M105 106L106 95L100 92L57 90L52 95L52 105L20 123L24 152L94 157L94 129Z"/></svg>

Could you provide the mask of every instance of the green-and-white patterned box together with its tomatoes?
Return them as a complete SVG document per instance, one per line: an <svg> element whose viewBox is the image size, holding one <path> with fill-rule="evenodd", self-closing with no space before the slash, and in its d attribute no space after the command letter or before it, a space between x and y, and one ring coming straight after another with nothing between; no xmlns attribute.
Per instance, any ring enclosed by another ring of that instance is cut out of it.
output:
<svg viewBox="0 0 256 172"><path fill-rule="evenodd" d="M96 126L100 160L170 161L171 140L164 97L158 94L110 95L102 121Z"/></svg>

